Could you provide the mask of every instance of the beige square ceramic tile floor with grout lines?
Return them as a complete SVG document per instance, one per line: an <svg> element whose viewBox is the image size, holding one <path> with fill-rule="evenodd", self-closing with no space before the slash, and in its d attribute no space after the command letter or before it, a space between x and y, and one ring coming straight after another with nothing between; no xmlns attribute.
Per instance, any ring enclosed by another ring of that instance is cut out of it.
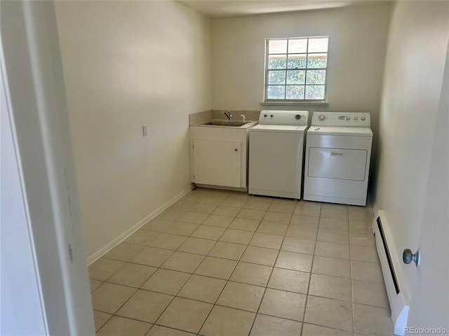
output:
<svg viewBox="0 0 449 336"><path fill-rule="evenodd" d="M372 221L192 190L89 267L97 335L393 335Z"/></svg>

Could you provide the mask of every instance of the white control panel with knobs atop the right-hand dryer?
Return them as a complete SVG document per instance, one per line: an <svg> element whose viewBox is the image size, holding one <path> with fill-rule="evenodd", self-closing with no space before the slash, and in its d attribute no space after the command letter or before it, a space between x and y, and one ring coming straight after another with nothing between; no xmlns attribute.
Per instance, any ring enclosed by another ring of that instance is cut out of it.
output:
<svg viewBox="0 0 449 336"><path fill-rule="evenodd" d="M370 113L363 112L314 112L312 126L370 127Z"/></svg>

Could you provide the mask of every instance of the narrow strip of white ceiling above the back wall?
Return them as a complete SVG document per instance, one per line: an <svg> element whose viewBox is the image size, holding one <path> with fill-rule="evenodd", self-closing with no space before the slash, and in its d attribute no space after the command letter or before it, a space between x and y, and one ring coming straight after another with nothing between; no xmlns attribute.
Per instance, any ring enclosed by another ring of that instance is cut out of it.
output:
<svg viewBox="0 0 449 336"><path fill-rule="evenodd" d="M309 0L309 1L274 1L274 0L178 0L177 2L192 8L209 18L229 18L234 16L264 13L281 13L298 10L314 10L346 6L366 6L389 1L370 0Z"/></svg>

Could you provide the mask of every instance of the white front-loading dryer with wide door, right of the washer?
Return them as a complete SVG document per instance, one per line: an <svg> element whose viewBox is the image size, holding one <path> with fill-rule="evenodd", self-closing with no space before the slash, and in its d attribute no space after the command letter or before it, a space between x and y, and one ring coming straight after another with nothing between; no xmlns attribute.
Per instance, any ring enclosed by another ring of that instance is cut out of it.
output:
<svg viewBox="0 0 449 336"><path fill-rule="evenodd" d="M314 112L304 200L365 206L372 142L370 113Z"/></svg>

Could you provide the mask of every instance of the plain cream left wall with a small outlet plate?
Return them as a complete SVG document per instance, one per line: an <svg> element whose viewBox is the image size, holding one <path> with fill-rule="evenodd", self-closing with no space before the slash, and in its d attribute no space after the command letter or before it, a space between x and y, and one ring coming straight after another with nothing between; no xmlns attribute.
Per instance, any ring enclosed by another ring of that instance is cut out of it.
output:
<svg viewBox="0 0 449 336"><path fill-rule="evenodd" d="M57 1L56 13L92 257L189 188L188 115L211 107L210 22L174 1Z"/></svg>

